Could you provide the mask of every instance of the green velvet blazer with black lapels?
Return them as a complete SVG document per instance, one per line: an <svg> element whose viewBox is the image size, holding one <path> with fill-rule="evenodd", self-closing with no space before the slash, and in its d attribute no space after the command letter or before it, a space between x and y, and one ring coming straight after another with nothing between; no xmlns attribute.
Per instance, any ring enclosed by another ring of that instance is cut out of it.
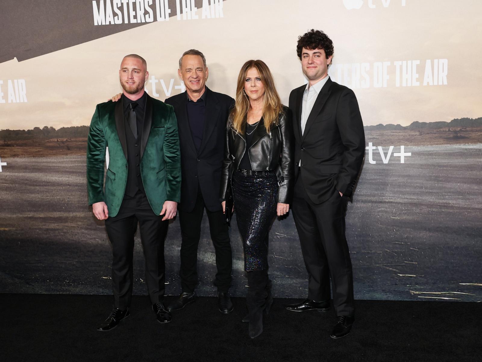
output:
<svg viewBox="0 0 482 362"><path fill-rule="evenodd" d="M109 217L116 216L127 183L127 141L122 101L100 103L87 139L87 194L89 205L104 201ZM109 165L104 189L106 147ZM174 108L147 95L141 139L141 177L156 215L164 201L179 202L181 157Z"/></svg>

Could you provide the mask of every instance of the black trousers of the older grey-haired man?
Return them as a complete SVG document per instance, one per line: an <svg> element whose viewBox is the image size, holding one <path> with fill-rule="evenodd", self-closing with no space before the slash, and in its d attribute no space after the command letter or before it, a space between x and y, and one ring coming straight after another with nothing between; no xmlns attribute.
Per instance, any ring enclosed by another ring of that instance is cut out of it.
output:
<svg viewBox="0 0 482 362"><path fill-rule="evenodd" d="M191 212L178 211L181 226L181 287L183 292L192 293L198 284L198 246L201 238L201 221L204 214L204 199L198 185L196 204ZM231 286L232 252L228 225L224 223L223 211L209 211L209 232L216 254L217 273L214 285L218 292L228 292Z"/></svg>

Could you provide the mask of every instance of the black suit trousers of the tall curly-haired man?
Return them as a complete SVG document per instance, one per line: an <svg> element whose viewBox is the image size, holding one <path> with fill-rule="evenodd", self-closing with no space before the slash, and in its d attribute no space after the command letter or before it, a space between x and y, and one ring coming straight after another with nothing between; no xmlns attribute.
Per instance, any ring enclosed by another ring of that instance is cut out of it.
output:
<svg viewBox="0 0 482 362"><path fill-rule="evenodd" d="M308 271L308 299L329 300L331 277L337 316L354 315L353 276L345 237L347 202L347 197L334 189L328 200L313 203L298 174L292 210Z"/></svg>

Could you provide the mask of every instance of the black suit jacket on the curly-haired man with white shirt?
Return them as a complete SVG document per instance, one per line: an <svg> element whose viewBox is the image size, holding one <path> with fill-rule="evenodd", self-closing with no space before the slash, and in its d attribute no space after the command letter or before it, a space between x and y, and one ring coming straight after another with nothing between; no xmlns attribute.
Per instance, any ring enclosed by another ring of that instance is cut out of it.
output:
<svg viewBox="0 0 482 362"><path fill-rule="evenodd" d="M353 91L328 79L316 98L301 135L301 107L306 85L290 94L295 134L295 165L301 160L301 178L316 204L335 189L351 196L365 155L365 134ZM298 167L295 167L295 177Z"/></svg>

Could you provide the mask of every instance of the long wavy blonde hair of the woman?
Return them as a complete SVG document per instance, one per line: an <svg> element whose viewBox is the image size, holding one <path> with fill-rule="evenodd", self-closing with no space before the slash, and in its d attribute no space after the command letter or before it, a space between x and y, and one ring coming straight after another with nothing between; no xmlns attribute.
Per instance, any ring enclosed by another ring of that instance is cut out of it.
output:
<svg viewBox="0 0 482 362"><path fill-rule="evenodd" d="M238 85L236 87L236 107L233 108L230 114L232 120L232 127L236 133L244 134L246 131L247 115L250 107L249 97L244 93L244 84L246 81L246 73L251 68L258 70L261 82L265 87L265 94L263 98L263 119L265 123L266 132L269 132L271 125L278 122L278 115L282 110L280 96L276 91L274 85L273 75L266 63L262 60L248 60L241 67L238 76Z"/></svg>

